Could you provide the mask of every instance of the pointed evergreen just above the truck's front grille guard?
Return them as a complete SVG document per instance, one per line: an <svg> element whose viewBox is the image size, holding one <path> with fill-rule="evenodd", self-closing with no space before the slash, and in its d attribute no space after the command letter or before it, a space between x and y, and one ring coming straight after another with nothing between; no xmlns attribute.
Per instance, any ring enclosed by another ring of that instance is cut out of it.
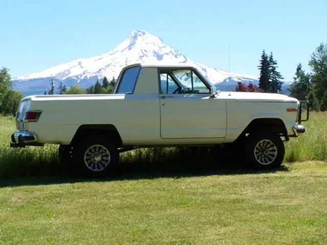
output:
<svg viewBox="0 0 327 245"><path fill-rule="evenodd" d="M310 75L305 73L301 63L297 65L293 79L294 82L289 89L290 95L297 100L308 100L311 91Z"/></svg>

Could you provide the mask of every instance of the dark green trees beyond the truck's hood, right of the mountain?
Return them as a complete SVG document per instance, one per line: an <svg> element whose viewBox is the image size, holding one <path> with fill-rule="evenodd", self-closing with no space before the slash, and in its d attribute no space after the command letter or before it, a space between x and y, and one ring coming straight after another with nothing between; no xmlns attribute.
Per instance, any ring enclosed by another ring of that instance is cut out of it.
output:
<svg viewBox="0 0 327 245"><path fill-rule="evenodd" d="M317 111L327 110L327 44L320 43L311 54L308 62L311 73L306 72L301 63L295 69L293 83L288 89L290 96L298 100L308 100L310 109ZM284 79L277 71L277 62L272 53L269 57L263 50L258 66L260 70L259 87L249 83L244 85L238 82L234 91L240 92L266 92L282 93L282 80Z"/></svg>

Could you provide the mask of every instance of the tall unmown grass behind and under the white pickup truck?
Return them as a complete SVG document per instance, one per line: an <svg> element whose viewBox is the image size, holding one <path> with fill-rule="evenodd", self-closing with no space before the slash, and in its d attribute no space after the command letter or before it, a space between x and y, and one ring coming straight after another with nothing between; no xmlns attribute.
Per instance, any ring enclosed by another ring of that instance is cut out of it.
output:
<svg viewBox="0 0 327 245"><path fill-rule="evenodd" d="M285 162L327 159L327 113L313 112L305 124L307 132L286 143ZM50 176L69 173L69 166L59 164L58 145L10 148L10 135L15 131L13 117L0 117L0 178ZM237 154L237 153L236 153ZM188 148L141 149L122 154L121 162L129 169L143 166L170 168L184 166L205 168L208 165L232 164L230 155L217 148L190 150Z"/></svg>

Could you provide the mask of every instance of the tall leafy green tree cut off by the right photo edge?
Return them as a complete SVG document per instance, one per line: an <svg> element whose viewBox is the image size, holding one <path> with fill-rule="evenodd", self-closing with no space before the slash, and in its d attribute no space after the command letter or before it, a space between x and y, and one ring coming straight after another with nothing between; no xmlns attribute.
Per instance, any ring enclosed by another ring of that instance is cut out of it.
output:
<svg viewBox="0 0 327 245"><path fill-rule="evenodd" d="M309 66L313 71L311 96L316 103L314 108L325 111L327 110L327 44L320 43L311 55Z"/></svg>

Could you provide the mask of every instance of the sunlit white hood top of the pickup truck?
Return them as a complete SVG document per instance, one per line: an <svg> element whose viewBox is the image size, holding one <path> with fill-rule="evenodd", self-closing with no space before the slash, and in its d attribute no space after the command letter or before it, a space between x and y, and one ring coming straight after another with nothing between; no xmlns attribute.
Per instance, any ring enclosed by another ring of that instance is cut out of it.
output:
<svg viewBox="0 0 327 245"><path fill-rule="evenodd" d="M298 103L293 97L277 93L254 93L254 92L221 92L223 97L239 102L289 102ZM230 95L229 95L230 94Z"/></svg>

